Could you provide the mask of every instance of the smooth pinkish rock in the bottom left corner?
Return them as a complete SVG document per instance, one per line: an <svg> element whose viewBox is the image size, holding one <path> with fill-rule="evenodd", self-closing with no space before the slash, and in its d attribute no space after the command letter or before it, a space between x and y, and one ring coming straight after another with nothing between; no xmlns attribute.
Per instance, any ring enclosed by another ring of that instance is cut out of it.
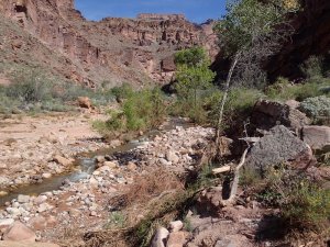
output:
<svg viewBox="0 0 330 247"><path fill-rule="evenodd" d="M33 243L35 242L35 233L21 222L13 223L12 226L9 227L8 231L3 234L3 240L11 242ZM30 246L30 244L28 246Z"/></svg>

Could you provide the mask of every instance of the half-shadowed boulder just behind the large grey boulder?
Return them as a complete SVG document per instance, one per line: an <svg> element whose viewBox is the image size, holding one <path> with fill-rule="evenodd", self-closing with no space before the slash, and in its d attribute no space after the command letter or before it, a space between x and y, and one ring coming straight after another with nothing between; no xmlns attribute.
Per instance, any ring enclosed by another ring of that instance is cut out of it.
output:
<svg viewBox="0 0 330 247"><path fill-rule="evenodd" d="M297 110L298 103L289 101L279 103L270 100L260 100L253 109L251 123L257 128L270 130L282 124L297 131L311 123L305 113Z"/></svg>

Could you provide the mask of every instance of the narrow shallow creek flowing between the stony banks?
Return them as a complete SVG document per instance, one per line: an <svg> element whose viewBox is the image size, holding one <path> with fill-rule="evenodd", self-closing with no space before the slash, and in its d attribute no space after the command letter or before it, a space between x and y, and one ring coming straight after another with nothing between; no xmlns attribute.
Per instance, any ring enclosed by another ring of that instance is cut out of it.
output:
<svg viewBox="0 0 330 247"><path fill-rule="evenodd" d="M38 195L47 191L58 190L63 186L63 183L67 180L69 180L70 182L77 182L81 179L85 179L89 175L91 175L96 169L96 159L95 159L96 156L112 155L117 151L121 151L121 153L129 151L140 146L144 142L154 138L156 135L160 135L162 132L174 130L176 126L188 127L191 125L182 119L170 119L169 121L167 121L165 124L162 125L161 130L152 130L147 132L145 135L139 137L138 139L133 139L119 147L100 149L97 151L85 154L84 156L78 156L76 158L74 168L69 172L57 175L50 179L44 179L43 182L41 183L28 184L24 187L11 189L9 190L9 193L7 195L0 197L0 206L4 206L6 202L9 202L18 198L19 194Z"/></svg>

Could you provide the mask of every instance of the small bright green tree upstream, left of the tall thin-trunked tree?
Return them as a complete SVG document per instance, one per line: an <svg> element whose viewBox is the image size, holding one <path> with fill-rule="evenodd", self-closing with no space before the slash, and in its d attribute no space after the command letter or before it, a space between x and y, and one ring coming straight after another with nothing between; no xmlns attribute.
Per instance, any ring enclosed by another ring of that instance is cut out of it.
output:
<svg viewBox="0 0 330 247"><path fill-rule="evenodd" d="M177 66L176 89L178 97L186 101L193 101L193 114L198 114L200 100L198 92L211 86L216 74L210 70L210 60L201 47L184 49L175 55ZM193 116L196 119L196 115Z"/></svg>

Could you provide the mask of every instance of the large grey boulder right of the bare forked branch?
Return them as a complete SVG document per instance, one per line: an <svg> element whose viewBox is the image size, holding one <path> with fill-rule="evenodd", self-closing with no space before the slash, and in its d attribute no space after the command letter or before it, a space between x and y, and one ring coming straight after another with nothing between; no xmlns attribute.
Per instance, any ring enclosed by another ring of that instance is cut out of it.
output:
<svg viewBox="0 0 330 247"><path fill-rule="evenodd" d="M311 165L314 156L310 147L296 137L287 127L277 125L255 143L248 158L246 167L266 170L268 166L285 161L296 161L300 168Z"/></svg>

